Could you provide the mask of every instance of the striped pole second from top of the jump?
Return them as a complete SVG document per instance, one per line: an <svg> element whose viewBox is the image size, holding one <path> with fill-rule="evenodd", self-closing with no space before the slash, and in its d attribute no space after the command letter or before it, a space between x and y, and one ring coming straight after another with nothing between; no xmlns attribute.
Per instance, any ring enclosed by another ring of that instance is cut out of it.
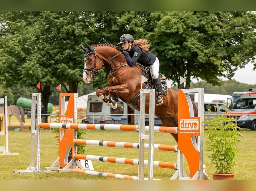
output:
<svg viewBox="0 0 256 191"><path fill-rule="evenodd" d="M84 140L84 139L74 139L74 144L119 147L119 148L139 148L139 143ZM148 144L145 144L145 149L148 149ZM154 149L163 150L163 151L175 151L175 152L177 152L178 150L177 145L166 145L166 144L154 144Z"/></svg>

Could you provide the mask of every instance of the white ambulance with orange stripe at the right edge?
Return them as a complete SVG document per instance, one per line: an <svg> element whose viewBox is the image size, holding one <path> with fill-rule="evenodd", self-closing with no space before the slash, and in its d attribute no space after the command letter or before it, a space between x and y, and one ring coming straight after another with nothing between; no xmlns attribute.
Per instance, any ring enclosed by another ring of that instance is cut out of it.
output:
<svg viewBox="0 0 256 191"><path fill-rule="evenodd" d="M256 130L256 88L249 89L235 103L227 117L237 119L234 123L240 128Z"/></svg>

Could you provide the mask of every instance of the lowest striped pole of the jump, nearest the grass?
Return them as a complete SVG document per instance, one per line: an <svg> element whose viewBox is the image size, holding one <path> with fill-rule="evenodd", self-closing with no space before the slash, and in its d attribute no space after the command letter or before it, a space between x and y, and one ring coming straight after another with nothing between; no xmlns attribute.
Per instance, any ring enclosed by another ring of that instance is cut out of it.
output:
<svg viewBox="0 0 256 191"><path fill-rule="evenodd" d="M114 174L114 173L107 173L107 172L97 172L97 171L91 171L86 169L73 169L73 172L80 173L80 174L89 174L89 175L98 175L98 176L105 176L105 177L111 177L111 178L121 178L125 180L138 180L138 176L128 176L123 174ZM144 180L147 180L148 178L144 178ZM159 180L155 179L154 180Z"/></svg>

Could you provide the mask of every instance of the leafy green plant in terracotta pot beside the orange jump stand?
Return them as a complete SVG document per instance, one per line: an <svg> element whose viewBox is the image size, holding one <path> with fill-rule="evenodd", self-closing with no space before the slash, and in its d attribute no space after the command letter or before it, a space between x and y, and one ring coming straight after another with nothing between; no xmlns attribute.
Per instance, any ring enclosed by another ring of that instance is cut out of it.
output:
<svg viewBox="0 0 256 191"><path fill-rule="evenodd" d="M215 107L217 108L217 106ZM230 112L228 111L227 114ZM237 143L242 137L240 128L232 122L235 121L234 118L226 117L225 112L223 115L215 113L214 116L205 118L206 150L211 152L208 157L211 158L211 162L216 168L216 173L212 173L213 179L234 179L235 174L232 173L232 170L235 166L236 152L239 151ZM218 175L221 178L217 177Z"/></svg>

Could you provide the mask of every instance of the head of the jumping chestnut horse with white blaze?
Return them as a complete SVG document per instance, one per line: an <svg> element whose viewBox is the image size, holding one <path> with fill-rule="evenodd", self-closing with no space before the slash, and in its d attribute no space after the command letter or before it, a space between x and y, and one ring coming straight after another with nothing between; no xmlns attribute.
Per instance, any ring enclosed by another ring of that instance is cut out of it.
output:
<svg viewBox="0 0 256 191"><path fill-rule="evenodd" d="M80 45L85 51L84 57L84 70L83 70L83 81L88 84L93 81L94 75L96 75L103 67L102 58L96 53L95 48L86 44L86 47Z"/></svg>

